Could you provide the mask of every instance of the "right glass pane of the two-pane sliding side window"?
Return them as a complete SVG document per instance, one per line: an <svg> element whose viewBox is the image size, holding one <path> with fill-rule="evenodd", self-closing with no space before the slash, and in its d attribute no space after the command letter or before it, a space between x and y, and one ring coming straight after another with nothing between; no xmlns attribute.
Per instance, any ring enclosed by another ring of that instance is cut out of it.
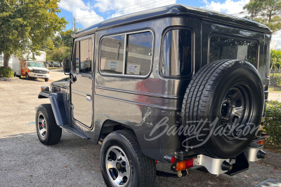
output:
<svg viewBox="0 0 281 187"><path fill-rule="evenodd" d="M151 69L152 33L129 34L127 37L126 74L148 75Z"/></svg>

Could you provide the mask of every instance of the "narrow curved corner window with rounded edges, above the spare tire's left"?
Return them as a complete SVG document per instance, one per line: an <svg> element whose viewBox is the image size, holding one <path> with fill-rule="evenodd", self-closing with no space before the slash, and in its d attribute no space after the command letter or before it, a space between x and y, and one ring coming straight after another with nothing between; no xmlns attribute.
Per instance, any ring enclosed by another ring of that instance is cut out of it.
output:
<svg viewBox="0 0 281 187"><path fill-rule="evenodd" d="M189 29L167 32L162 43L162 74L188 76L192 72L192 33Z"/></svg>

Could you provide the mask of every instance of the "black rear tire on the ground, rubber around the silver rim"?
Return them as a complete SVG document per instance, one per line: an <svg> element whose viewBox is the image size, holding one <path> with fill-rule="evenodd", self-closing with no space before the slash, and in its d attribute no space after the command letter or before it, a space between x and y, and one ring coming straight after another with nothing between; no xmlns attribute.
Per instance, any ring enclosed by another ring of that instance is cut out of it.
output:
<svg viewBox="0 0 281 187"><path fill-rule="evenodd" d="M107 176L105 157L112 146L119 146L125 152L131 167L131 176L126 186L154 186L156 179L155 160L141 152L136 136L130 130L118 130L108 134L100 150L100 169L107 186L115 186Z"/></svg>

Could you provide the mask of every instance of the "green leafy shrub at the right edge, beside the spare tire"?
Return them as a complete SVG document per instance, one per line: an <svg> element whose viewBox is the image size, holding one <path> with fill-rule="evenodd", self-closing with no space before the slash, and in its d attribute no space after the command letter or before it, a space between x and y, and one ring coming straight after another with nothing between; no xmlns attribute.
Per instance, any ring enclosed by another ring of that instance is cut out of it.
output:
<svg viewBox="0 0 281 187"><path fill-rule="evenodd" d="M266 104L264 132L268 136L267 146L281 147L281 103L270 101Z"/></svg>

